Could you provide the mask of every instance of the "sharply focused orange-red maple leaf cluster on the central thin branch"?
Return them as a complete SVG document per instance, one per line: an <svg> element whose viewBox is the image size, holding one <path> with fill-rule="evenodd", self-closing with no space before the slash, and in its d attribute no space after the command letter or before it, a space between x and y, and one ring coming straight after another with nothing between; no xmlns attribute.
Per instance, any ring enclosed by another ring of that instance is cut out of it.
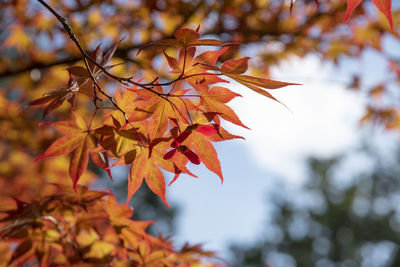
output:
<svg viewBox="0 0 400 267"><path fill-rule="evenodd" d="M218 67L218 58L229 47L196 55L197 46L228 45L231 44L213 39L200 39L198 31L191 29L178 30L175 39L146 45L143 48L178 48L179 54L176 58L163 51L171 68L170 72L176 77L165 82L158 81L158 78L151 82L127 79L127 82L133 85L123 87L123 92L116 88L115 97L106 95L97 82L91 83L95 110L90 121L86 122L81 115L73 112L72 120L43 123L51 125L63 135L37 160L70 155L69 173L74 187L88 166L89 155L94 163L109 172L111 179L111 167L128 165L130 174L127 201L145 181L149 188L169 205L165 196L166 185L162 170L175 175L172 182L182 173L196 177L187 167L189 162L196 165L203 163L223 181L220 162L212 142L240 137L228 133L222 127L221 119L247 127L226 105L240 95L216 85L229 83L220 77L229 77L273 100L276 99L265 89L291 85L244 75L249 58L228 60ZM104 67L115 49L116 46L112 52L106 53L104 58L102 53L98 52L98 48L95 50L93 55L97 55L97 58L92 59L92 67L89 66L92 68L89 72L93 75L89 75L83 67L68 69L69 83L76 84L76 92L80 91L81 86L83 90L86 89L84 86L90 81L90 76L97 79L99 74L104 72L104 75L115 78ZM93 62L97 63L94 67ZM111 99L114 106L110 111L104 111L97 105L99 92ZM29 105L47 104L48 97L45 95ZM47 111L52 109L53 105L50 102L45 107L44 114L47 115Z"/></svg>

